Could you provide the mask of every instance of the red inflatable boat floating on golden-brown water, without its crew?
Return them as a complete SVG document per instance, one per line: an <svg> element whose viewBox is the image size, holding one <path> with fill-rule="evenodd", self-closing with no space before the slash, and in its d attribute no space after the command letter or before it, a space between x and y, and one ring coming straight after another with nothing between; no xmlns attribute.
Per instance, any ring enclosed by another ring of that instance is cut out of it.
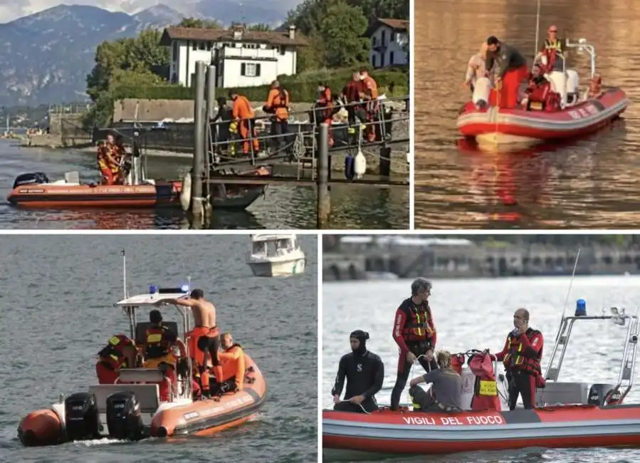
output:
<svg viewBox="0 0 640 463"><path fill-rule="evenodd" d="M545 107L545 101L550 100L546 96L540 101L523 100L523 105L513 109L488 106L484 103L489 103L491 98L476 93L491 90L478 85L473 101L466 103L458 115L460 133L475 138L481 145L531 145L545 140L582 137L612 123L631 101L620 88L600 89L602 79L595 73L592 45L580 39L577 43L567 41L567 48L575 48L578 53L587 51L591 55L591 85L587 93L581 95L577 73L564 67L562 71L544 74L552 96L560 102L557 108ZM530 97L533 98L533 94Z"/></svg>

